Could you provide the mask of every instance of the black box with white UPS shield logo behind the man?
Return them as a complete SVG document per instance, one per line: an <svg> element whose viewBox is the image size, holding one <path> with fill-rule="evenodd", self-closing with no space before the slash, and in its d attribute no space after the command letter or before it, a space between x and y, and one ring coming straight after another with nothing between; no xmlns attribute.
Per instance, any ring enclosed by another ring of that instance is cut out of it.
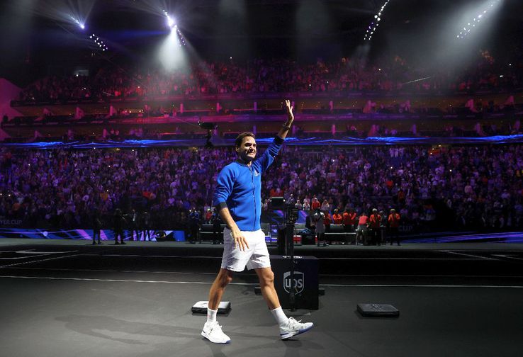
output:
<svg viewBox="0 0 523 357"><path fill-rule="evenodd" d="M315 256L294 256L295 303L291 306L291 257L271 256L274 287L283 309L318 310L318 260Z"/></svg>

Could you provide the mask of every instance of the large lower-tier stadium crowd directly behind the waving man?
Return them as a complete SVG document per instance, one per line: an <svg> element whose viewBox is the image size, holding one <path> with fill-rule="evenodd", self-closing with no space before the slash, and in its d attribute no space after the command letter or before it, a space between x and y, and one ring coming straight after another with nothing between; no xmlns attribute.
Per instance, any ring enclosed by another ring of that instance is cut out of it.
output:
<svg viewBox="0 0 523 357"><path fill-rule="evenodd" d="M215 176L232 148L0 149L0 217L25 227L90 227L118 208L154 229L208 220ZM523 227L523 147L284 147L262 197L332 214L395 208L403 222L439 229ZM317 203L316 203L317 201ZM147 212L147 213L145 213ZM110 220L106 220L109 222Z"/></svg>

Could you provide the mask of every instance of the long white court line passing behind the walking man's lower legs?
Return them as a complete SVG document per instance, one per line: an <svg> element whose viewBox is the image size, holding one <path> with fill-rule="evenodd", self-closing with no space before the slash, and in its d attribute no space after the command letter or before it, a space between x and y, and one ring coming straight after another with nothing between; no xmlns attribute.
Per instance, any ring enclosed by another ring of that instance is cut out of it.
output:
<svg viewBox="0 0 523 357"><path fill-rule="evenodd" d="M95 278L60 278L55 276L0 276L11 279L38 279L38 280L75 280L75 281L102 281L109 283L153 283L153 284L186 284L212 285L213 282L204 281L168 281L168 280L128 280L128 279L95 279ZM258 286L259 283L230 283L229 285ZM523 289L522 285L398 285L398 284L321 284L320 287L330 288L510 288Z"/></svg>

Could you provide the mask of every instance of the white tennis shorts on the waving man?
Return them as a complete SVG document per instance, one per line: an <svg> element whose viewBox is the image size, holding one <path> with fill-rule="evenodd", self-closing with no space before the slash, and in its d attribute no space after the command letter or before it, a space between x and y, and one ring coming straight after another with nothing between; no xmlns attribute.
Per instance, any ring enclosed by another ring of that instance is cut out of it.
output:
<svg viewBox="0 0 523 357"><path fill-rule="evenodd" d="M249 249L240 250L238 245L234 246L235 240L232 239L230 229L223 229L223 257L222 268L230 271L244 271L247 269L269 268L269 250L265 243L265 233L262 229L254 232L242 231L243 236L247 239Z"/></svg>

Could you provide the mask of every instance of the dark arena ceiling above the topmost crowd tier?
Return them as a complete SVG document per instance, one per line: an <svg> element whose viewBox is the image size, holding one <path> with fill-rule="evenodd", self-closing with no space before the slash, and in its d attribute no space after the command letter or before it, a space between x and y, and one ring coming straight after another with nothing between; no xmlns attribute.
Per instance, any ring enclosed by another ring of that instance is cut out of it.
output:
<svg viewBox="0 0 523 357"><path fill-rule="evenodd" d="M169 33L162 8L176 18L184 38L203 58L311 60L351 56L361 47L370 56L426 52L430 57L436 36L454 36L453 30L445 33L456 25L454 19L489 0L389 0L381 27L372 41L364 40L386 1L4 0L0 1L4 34L0 77L86 62L100 55L86 37L93 33L108 46L103 57L140 60ZM510 50L522 43L523 1L500 1L500 11L478 48ZM85 22L85 29L72 19Z"/></svg>

